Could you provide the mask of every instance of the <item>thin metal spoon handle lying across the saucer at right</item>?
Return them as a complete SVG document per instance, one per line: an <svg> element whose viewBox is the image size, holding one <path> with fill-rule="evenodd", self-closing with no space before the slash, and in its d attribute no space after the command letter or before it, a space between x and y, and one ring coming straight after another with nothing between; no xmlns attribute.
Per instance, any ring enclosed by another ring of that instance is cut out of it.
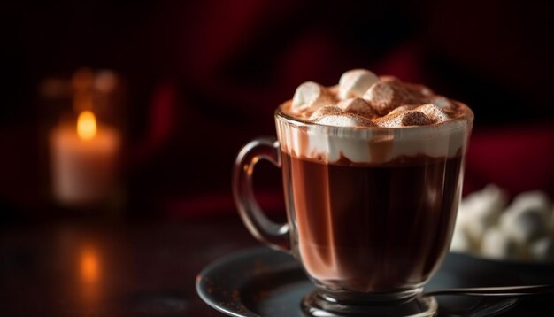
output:
<svg viewBox="0 0 554 317"><path fill-rule="evenodd" d="M524 285L524 286L495 286L495 287L468 287L441 290L428 290L423 296L466 295L466 296L496 296L519 297L554 293L554 284Z"/></svg>

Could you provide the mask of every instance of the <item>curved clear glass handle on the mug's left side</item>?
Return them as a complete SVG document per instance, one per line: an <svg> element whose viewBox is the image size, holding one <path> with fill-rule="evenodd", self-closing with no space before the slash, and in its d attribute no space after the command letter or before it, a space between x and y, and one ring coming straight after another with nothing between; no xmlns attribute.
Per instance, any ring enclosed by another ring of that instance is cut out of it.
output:
<svg viewBox="0 0 554 317"><path fill-rule="evenodd" d="M252 189L254 166L266 159L281 167L279 141L274 137L260 137L246 144L235 160L233 170L233 196L242 222L252 236L269 247L281 251L290 250L289 225L269 220L262 211Z"/></svg>

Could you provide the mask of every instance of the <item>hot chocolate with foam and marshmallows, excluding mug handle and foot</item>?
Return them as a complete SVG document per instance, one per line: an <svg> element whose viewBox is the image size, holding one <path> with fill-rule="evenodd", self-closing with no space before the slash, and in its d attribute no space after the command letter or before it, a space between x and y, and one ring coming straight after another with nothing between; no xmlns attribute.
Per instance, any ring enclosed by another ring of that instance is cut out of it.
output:
<svg viewBox="0 0 554 317"><path fill-rule="evenodd" d="M277 122L295 253L307 273L360 292L427 281L456 220L469 108L355 70L335 87L304 83L277 112L312 123ZM321 133L335 127L359 136Z"/></svg>

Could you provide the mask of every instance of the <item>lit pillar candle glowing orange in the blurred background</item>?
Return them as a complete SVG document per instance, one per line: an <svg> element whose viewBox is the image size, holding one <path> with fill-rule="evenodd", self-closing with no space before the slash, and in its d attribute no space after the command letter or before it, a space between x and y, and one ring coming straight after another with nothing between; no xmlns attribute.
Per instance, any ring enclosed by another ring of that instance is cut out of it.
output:
<svg viewBox="0 0 554 317"><path fill-rule="evenodd" d="M103 201L117 186L120 137L96 125L94 113L81 112L77 126L61 124L50 134L53 194L60 203Z"/></svg>

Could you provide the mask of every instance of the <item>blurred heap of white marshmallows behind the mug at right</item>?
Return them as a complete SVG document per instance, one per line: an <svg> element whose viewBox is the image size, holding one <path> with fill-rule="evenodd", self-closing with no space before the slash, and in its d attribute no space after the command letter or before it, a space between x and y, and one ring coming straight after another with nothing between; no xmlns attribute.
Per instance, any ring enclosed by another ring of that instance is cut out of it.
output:
<svg viewBox="0 0 554 317"><path fill-rule="evenodd" d="M462 199L450 251L529 263L554 263L554 204L542 191L512 200L488 185Z"/></svg>

